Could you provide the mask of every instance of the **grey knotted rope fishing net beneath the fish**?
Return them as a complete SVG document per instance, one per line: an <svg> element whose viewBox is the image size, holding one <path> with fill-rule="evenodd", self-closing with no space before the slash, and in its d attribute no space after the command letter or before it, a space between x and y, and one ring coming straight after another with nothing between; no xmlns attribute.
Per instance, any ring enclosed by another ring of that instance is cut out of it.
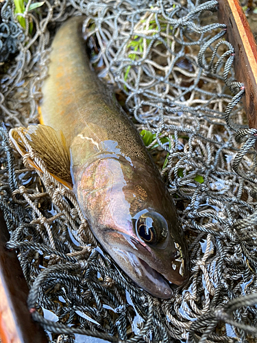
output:
<svg viewBox="0 0 257 343"><path fill-rule="evenodd" d="M222 38L217 1L30 5L18 15L12 1L1 2L0 206L34 320L58 343L254 342L256 130L246 128L244 86L234 80L234 50ZM169 300L153 298L119 270L73 193L47 173L22 132L23 160L8 141L10 128L38 123L51 38L79 14L86 15L93 67L113 84L139 132L147 130L182 221L191 278L173 287Z"/></svg>

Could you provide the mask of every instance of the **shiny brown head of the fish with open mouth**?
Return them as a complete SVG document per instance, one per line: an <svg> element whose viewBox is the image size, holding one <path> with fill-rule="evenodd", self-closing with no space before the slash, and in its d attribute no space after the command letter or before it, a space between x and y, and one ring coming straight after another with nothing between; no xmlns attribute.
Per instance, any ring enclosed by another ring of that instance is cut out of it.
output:
<svg viewBox="0 0 257 343"><path fill-rule="evenodd" d="M95 237L130 278L170 298L188 279L184 234L158 170L134 159L104 158L75 178L75 193Z"/></svg>

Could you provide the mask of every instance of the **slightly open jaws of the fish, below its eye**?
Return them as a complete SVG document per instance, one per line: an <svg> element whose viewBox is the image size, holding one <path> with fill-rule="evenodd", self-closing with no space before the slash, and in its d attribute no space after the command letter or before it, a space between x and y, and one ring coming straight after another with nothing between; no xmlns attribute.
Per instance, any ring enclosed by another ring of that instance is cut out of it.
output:
<svg viewBox="0 0 257 343"><path fill-rule="evenodd" d="M131 235L112 229L103 230L98 239L134 283L152 296L170 298L172 291L168 281L182 285L187 279L182 272L184 262L176 259L171 250L158 254ZM171 248L171 244L168 246Z"/></svg>

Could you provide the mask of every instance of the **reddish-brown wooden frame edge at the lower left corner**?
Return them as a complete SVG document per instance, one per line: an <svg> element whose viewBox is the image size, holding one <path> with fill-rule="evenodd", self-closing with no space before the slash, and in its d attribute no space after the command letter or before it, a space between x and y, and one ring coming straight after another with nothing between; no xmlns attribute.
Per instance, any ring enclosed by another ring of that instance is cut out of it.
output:
<svg viewBox="0 0 257 343"><path fill-rule="evenodd" d="M47 343L43 329L27 308L29 288L15 251L5 248L8 229L0 211L0 340L1 343Z"/></svg>

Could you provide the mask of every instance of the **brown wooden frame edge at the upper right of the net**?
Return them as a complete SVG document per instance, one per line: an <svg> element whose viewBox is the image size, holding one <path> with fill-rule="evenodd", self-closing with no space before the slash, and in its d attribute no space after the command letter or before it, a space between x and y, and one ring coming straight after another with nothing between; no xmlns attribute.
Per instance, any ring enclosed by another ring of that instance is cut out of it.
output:
<svg viewBox="0 0 257 343"><path fill-rule="evenodd" d="M236 80L245 84L243 104L249 128L257 128L257 46L238 0L218 0L218 17L227 25L225 39L234 47Z"/></svg>

